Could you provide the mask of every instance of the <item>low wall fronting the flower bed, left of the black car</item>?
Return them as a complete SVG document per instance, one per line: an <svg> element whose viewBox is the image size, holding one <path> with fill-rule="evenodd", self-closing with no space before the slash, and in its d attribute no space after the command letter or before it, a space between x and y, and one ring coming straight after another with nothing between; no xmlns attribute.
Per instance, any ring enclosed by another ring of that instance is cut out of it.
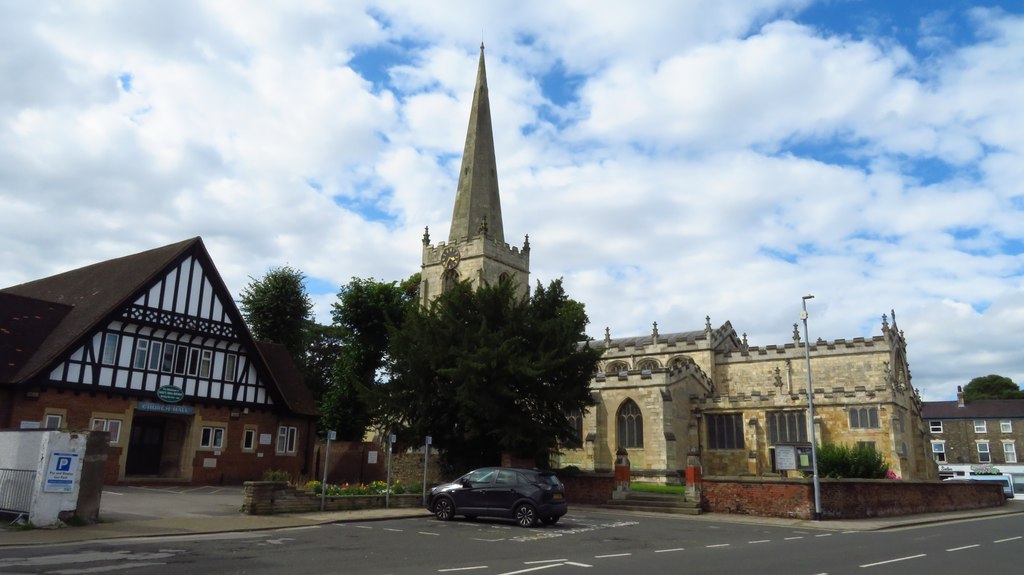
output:
<svg viewBox="0 0 1024 575"><path fill-rule="evenodd" d="M281 481L247 481L243 484L242 513L246 515L273 515L310 513L321 510L321 496L290 487ZM419 507L423 504L421 493L391 495L392 508ZM338 495L324 498L324 511L382 510L384 495Z"/></svg>

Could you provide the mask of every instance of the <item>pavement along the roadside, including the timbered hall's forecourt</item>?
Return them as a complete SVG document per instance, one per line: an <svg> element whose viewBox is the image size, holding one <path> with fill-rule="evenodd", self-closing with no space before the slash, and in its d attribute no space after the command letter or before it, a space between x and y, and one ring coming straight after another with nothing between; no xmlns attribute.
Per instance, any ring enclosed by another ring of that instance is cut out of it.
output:
<svg viewBox="0 0 1024 575"><path fill-rule="evenodd" d="M16 529L0 523L0 547L59 545L101 539L195 535L233 531L264 531L338 522L379 521L429 517L426 510L361 510L306 514L250 516L241 513L241 487L138 487L108 486L100 500L100 521L95 525L59 529ZM597 507L590 507L599 511ZM571 513L571 511L569 512ZM607 510L609 514L652 515ZM807 521L727 514L678 516L679 521L729 522L822 529L876 531L928 523L941 523L1024 513L1024 499L1006 505L946 514L843 521ZM657 517L665 517L657 514ZM3 519L3 516L0 516Z"/></svg>

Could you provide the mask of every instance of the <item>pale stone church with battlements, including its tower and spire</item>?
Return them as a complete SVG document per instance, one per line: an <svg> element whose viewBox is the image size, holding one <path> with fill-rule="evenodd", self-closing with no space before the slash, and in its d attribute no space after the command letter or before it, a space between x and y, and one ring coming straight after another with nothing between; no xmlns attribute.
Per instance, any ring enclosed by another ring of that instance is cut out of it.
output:
<svg viewBox="0 0 1024 575"><path fill-rule="evenodd" d="M423 235L424 304L455 282L513 278L529 286L529 236L505 242L483 46L447 241ZM777 471L775 453L809 455L818 442L872 445L904 479L935 479L922 401L910 385L906 341L895 313L880 334L810 345L814 422L808 422L807 362L798 326L793 341L751 346L732 323L702 329L591 342L604 355L591 381L597 405L567 414L579 441L553 456L555 467L610 471L627 450L636 479L679 483L687 466L705 475L797 475ZM788 467L788 466L782 466Z"/></svg>

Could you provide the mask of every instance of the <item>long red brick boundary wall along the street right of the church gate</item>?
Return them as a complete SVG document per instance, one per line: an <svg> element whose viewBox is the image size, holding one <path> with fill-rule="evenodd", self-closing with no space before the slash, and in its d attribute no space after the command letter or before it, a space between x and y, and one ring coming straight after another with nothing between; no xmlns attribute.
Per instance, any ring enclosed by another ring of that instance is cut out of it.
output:
<svg viewBox="0 0 1024 575"><path fill-rule="evenodd" d="M821 519L865 519L997 507L996 484L821 479ZM705 477L700 507L711 513L813 519L811 479Z"/></svg>

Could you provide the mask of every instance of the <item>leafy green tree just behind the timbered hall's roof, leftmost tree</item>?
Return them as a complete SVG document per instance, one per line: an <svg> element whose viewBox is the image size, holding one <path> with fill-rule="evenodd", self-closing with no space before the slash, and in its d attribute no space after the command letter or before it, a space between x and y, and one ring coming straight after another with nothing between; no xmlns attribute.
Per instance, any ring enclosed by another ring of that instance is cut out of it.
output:
<svg viewBox="0 0 1024 575"><path fill-rule="evenodd" d="M273 268L242 290L242 315L253 337L285 346L305 367L305 352L313 303L306 293L305 275L290 266Z"/></svg>

